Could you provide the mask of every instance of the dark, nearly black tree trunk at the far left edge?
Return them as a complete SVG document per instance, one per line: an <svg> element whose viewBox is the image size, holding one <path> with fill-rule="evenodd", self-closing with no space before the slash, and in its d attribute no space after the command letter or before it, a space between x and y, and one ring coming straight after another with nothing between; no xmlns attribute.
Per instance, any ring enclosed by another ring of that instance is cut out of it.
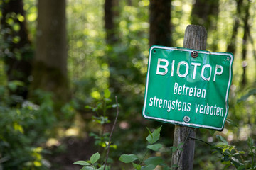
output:
<svg viewBox="0 0 256 170"><path fill-rule="evenodd" d="M18 86L11 94L27 98L28 77L31 75L33 50L28 39L25 11L22 0L2 1L1 30L5 44L1 47L8 81L18 80Z"/></svg>

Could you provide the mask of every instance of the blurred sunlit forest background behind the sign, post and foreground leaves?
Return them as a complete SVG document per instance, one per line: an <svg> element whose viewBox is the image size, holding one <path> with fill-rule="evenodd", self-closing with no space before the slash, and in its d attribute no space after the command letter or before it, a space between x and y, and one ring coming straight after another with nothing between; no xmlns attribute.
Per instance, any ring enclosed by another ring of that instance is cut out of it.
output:
<svg viewBox="0 0 256 170"><path fill-rule="evenodd" d="M111 169L132 169L119 156L142 157L146 127L161 125L163 148L149 155L170 165L174 125L141 115L148 51L182 47L188 24L206 28L206 50L235 57L225 128L198 129L197 138L215 143L222 135L245 159L255 155L247 145L256 136L255 0L0 0L0 7L0 169L80 169L73 162L95 152L104 162L114 96ZM222 156L196 141L194 169L224 169L230 162Z"/></svg>

